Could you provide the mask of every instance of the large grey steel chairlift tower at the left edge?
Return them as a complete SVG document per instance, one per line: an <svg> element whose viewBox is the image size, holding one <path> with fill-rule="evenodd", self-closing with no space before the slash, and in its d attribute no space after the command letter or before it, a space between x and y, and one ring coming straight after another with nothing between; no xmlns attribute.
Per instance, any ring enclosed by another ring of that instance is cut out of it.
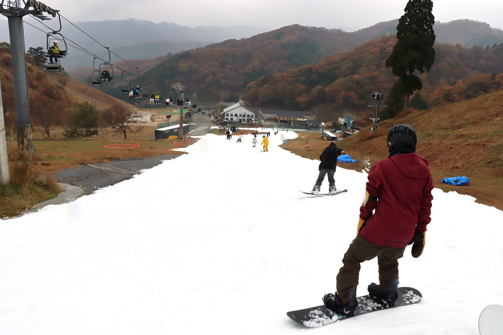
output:
<svg viewBox="0 0 503 335"><path fill-rule="evenodd" d="M12 72L14 75L14 96L16 97L16 134L18 145L36 153L33 146L30 106L28 103L28 84L26 80L25 41L23 35L23 16L33 15L40 20L49 20L44 12L56 17L53 10L35 0L0 0L0 14L9 21L11 38Z"/></svg>

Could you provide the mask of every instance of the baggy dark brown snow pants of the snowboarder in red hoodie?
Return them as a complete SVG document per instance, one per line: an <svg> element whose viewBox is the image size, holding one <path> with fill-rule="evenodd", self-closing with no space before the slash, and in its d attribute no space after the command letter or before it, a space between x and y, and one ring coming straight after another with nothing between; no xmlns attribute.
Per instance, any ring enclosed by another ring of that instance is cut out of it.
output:
<svg viewBox="0 0 503 335"><path fill-rule="evenodd" d="M377 256L379 265L379 289L389 292L391 282L398 278L398 259L405 248L391 248L370 243L360 234L350 244L344 255L344 266L337 275L337 294L343 303L349 302L349 292L358 285L360 264Z"/></svg>

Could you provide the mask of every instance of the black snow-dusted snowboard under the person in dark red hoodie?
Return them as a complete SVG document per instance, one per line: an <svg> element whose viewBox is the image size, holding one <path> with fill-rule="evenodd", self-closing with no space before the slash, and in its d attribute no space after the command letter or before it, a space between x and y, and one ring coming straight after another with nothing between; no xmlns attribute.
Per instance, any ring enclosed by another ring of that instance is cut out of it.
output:
<svg viewBox="0 0 503 335"><path fill-rule="evenodd" d="M368 295L358 297L358 307L353 315L339 315L327 309L325 305L294 310L286 313L289 318L308 328L317 328L339 320L374 312L376 310L406 306L420 302L423 296L421 292L411 287L398 288L398 300L384 303L379 299L374 300ZM492 334L492 333L489 333ZM483 334L485 335L485 334Z"/></svg>

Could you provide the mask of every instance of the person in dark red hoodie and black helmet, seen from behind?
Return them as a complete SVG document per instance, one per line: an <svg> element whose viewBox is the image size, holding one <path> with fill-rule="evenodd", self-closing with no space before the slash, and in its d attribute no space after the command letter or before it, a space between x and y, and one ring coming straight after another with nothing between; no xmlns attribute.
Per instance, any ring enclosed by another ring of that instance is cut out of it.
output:
<svg viewBox="0 0 503 335"><path fill-rule="evenodd" d="M414 258L425 247L434 187L428 160L415 153L417 135L406 124L391 128L387 142L388 159L376 162L368 175L357 236L344 255L337 292L323 297L327 308L342 315L352 315L358 306L360 263L377 256L379 285L371 283L367 289L376 302L393 304L398 299L398 259L408 244L413 243Z"/></svg>

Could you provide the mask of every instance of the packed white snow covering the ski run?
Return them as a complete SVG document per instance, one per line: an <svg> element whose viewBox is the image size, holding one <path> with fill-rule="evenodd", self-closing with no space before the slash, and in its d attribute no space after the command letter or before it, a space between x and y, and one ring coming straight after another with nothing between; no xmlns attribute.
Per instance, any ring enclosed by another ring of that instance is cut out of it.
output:
<svg viewBox="0 0 503 335"><path fill-rule="evenodd" d="M503 212L435 189L425 251L400 260L420 303L316 330L290 320L336 290L367 174L339 163L347 193L302 194L319 161L278 146L295 133L271 134L269 152L209 134L131 180L0 221L0 334L473 335L503 304ZM377 261L362 264L358 295L377 280Z"/></svg>

